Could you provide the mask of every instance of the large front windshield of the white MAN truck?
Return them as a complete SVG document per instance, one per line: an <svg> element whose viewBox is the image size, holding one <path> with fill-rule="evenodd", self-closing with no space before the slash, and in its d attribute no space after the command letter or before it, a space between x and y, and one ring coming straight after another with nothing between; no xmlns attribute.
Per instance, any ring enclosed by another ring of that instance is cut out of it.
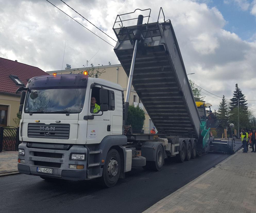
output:
<svg viewBox="0 0 256 213"><path fill-rule="evenodd" d="M86 88L29 89L25 113L79 113Z"/></svg>

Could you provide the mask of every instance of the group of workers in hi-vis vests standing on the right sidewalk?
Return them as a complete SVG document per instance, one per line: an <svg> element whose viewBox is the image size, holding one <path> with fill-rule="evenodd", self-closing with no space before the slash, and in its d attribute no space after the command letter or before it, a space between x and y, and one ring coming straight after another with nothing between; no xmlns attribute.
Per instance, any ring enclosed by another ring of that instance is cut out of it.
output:
<svg viewBox="0 0 256 213"><path fill-rule="evenodd" d="M250 144L249 148L252 148L251 152L256 153L256 130L252 129L251 130L246 130L246 128L242 128L242 131L240 133L241 135L241 141L243 143L243 153L248 152L248 147Z"/></svg>

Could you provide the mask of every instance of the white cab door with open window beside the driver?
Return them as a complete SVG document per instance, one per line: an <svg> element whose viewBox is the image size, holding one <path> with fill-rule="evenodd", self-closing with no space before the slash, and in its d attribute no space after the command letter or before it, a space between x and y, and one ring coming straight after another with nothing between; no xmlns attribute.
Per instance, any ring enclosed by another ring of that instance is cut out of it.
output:
<svg viewBox="0 0 256 213"><path fill-rule="evenodd" d="M94 86L90 90L89 106L91 106L92 101L96 102L96 105L92 108L89 107L88 110L88 116L93 115L93 119L88 119L87 144L98 144L104 137L110 135L111 111L97 111L98 106L101 104L99 102L100 88L99 86Z"/></svg>

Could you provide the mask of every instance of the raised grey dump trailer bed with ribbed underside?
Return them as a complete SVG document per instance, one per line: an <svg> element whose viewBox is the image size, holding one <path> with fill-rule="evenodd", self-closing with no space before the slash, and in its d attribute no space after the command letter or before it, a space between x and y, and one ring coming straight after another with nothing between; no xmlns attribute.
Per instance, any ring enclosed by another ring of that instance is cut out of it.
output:
<svg viewBox="0 0 256 213"><path fill-rule="evenodd" d="M132 85L158 133L199 138L200 115L171 22L114 29L114 51L127 76L136 29L144 39L138 43Z"/></svg>

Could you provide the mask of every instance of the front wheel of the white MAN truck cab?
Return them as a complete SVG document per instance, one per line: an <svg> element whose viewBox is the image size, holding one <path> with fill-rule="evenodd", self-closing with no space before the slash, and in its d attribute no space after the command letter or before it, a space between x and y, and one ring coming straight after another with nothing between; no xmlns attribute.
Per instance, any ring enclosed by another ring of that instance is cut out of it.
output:
<svg viewBox="0 0 256 213"><path fill-rule="evenodd" d="M101 184L104 187L113 187L120 176L121 159L116 149L110 149L105 164L103 166L103 174L101 176Z"/></svg>

